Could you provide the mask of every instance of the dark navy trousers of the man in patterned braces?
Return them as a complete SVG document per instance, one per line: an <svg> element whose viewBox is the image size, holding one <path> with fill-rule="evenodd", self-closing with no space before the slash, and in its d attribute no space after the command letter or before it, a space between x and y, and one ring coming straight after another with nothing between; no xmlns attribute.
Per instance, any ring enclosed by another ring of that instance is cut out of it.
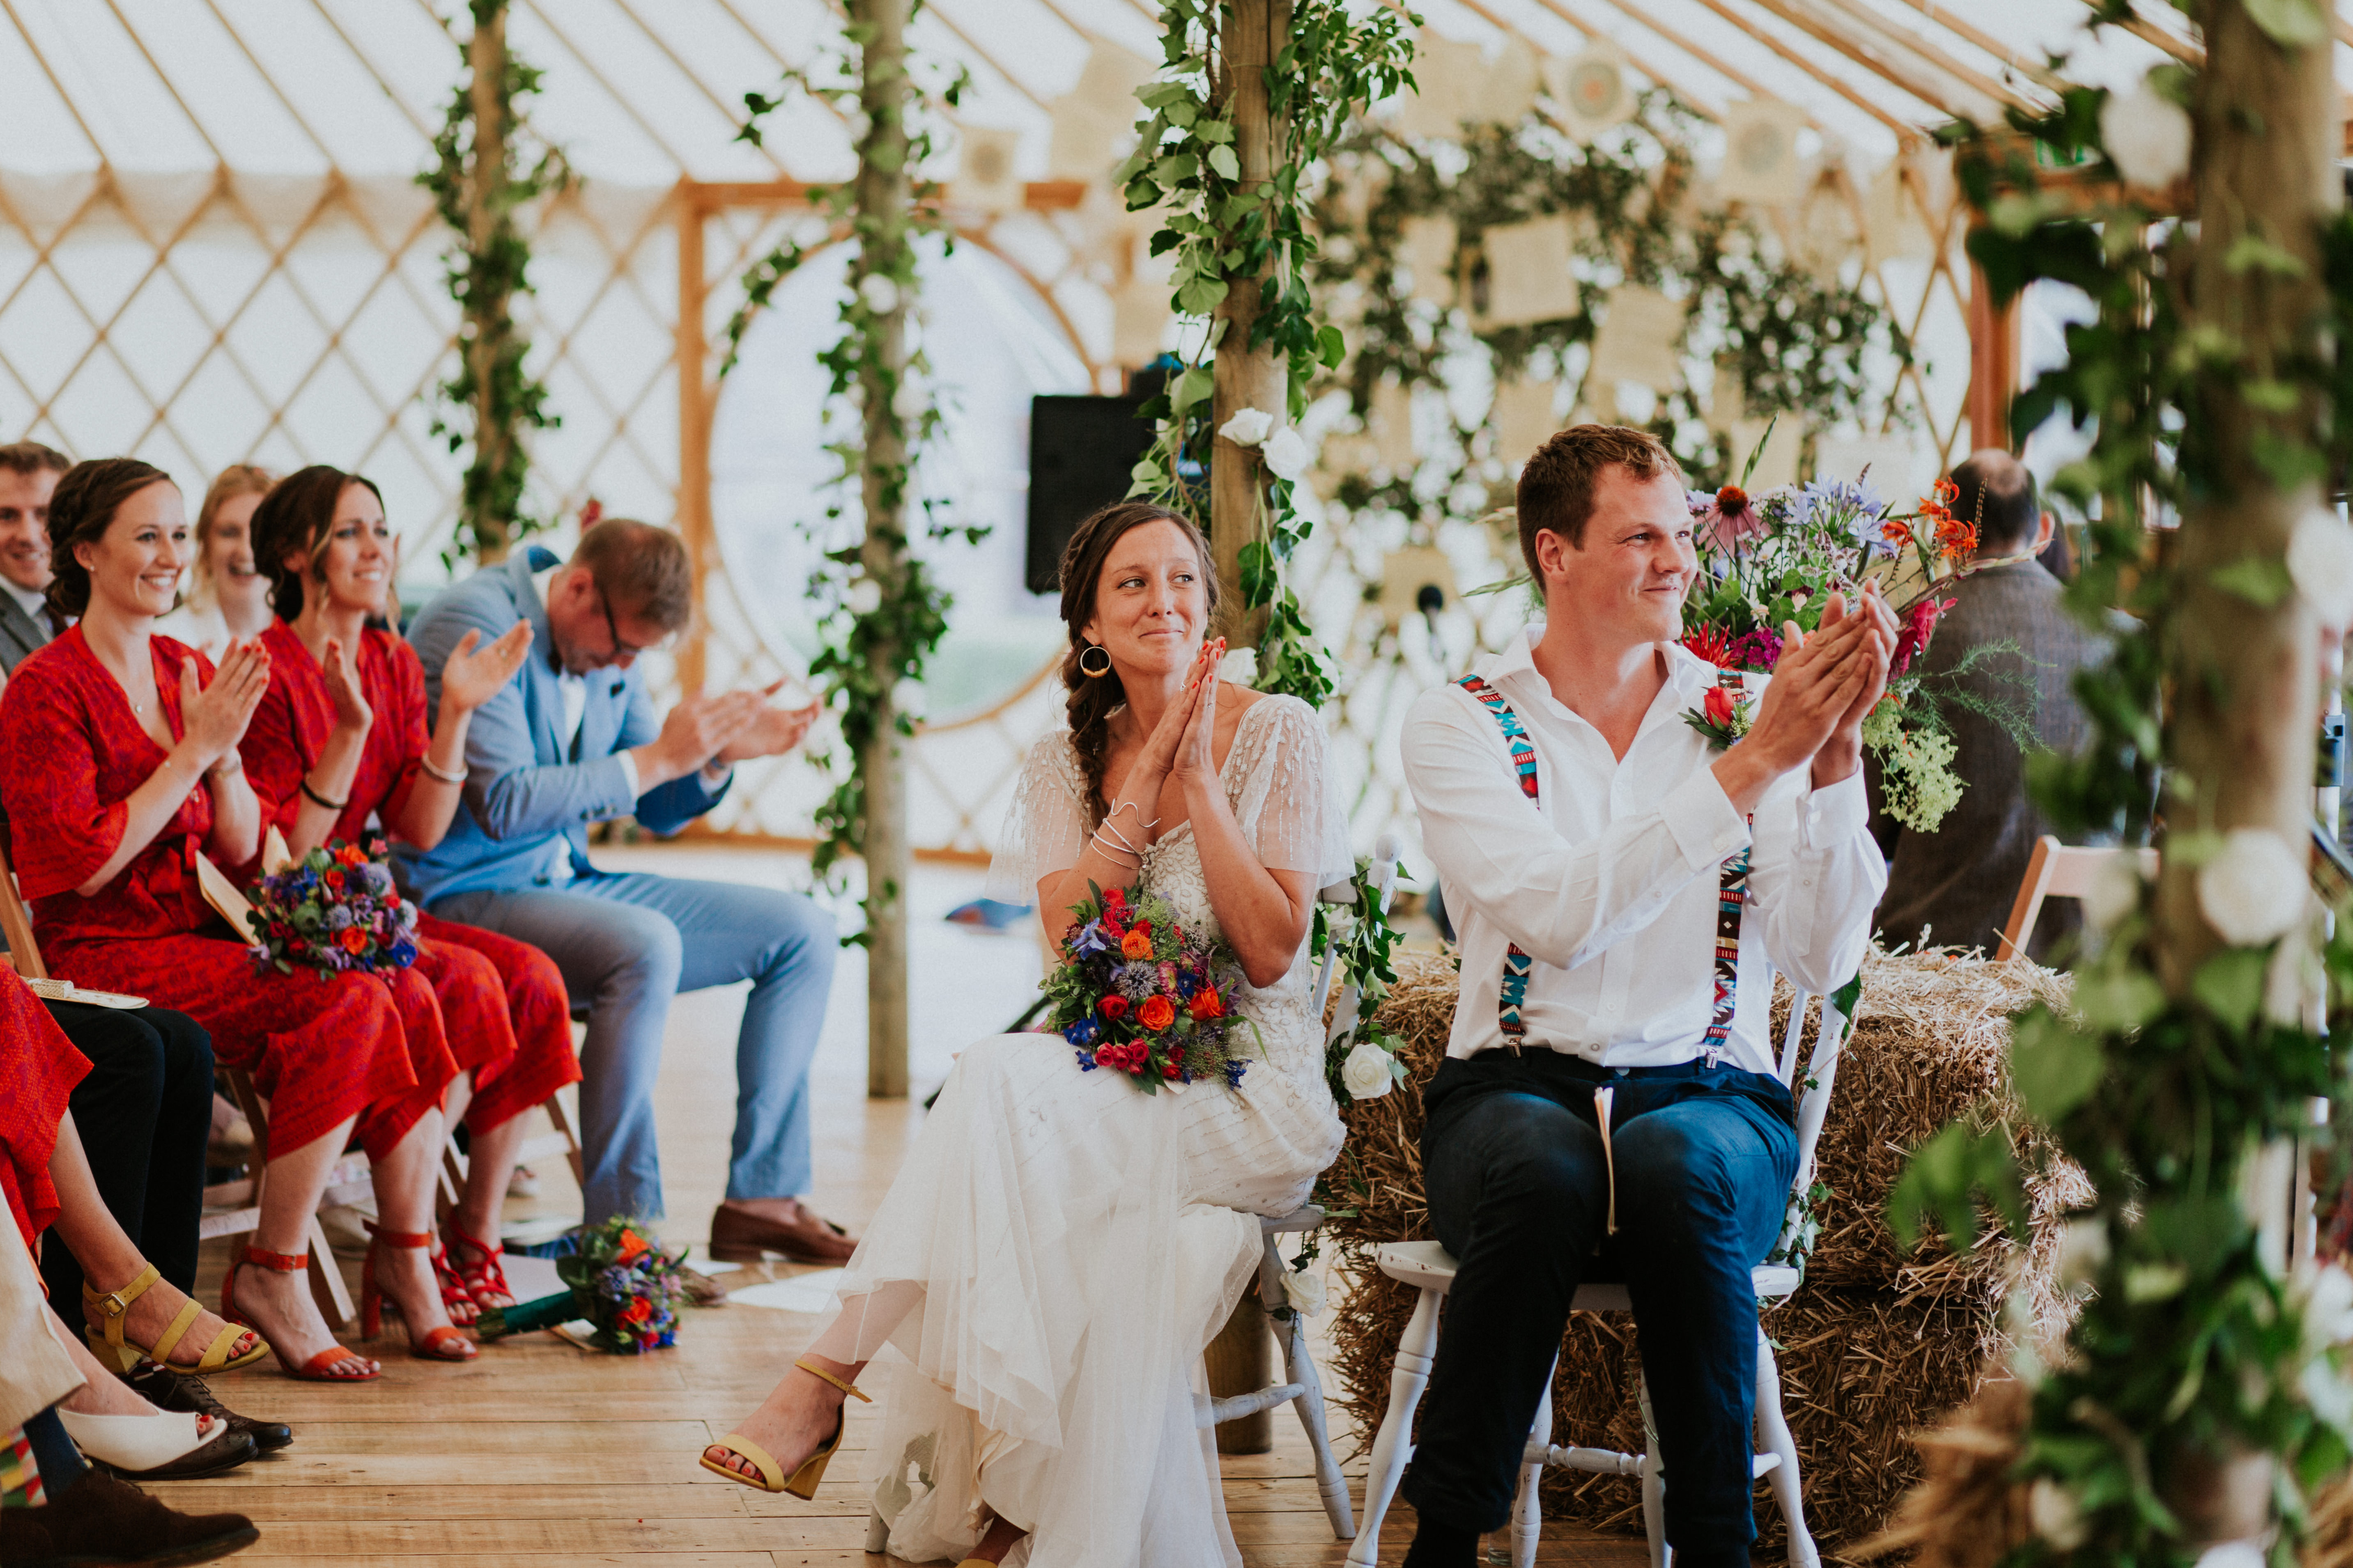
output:
<svg viewBox="0 0 2353 1568"><path fill-rule="evenodd" d="M1609 1215L1593 1114L1602 1084L1617 1088L1619 1234L1595 1258ZM1551 1396L1569 1298L1588 1279L1624 1279L1675 1563L1746 1568L1758 1382L1748 1269L1772 1251L1798 1171L1788 1091L1739 1067L1619 1074L1539 1046L1447 1060L1421 1100L1431 1222L1461 1267L1405 1497L1457 1528L1501 1528L1537 1399Z"/></svg>

